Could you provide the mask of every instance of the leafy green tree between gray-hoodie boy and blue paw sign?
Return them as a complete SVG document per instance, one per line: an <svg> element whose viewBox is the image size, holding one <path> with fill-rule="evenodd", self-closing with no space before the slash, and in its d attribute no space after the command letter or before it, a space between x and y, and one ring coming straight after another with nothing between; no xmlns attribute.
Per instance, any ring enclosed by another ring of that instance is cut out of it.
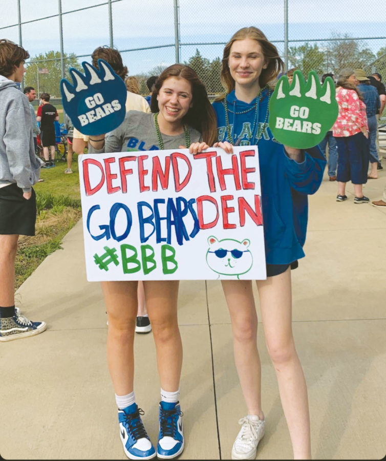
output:
<svg viewBox="0 0 386 461"><path fill-rule="evenodd" d="M83 71L75 53L64 54L65 78L72 83L69 69ZM47 69L48 73L39 73L39 69ZM30 59L24 76L24 86L34 87L36 92L49 93L51 97L60 97L61 60L59 51L48 51Z"/></svg>

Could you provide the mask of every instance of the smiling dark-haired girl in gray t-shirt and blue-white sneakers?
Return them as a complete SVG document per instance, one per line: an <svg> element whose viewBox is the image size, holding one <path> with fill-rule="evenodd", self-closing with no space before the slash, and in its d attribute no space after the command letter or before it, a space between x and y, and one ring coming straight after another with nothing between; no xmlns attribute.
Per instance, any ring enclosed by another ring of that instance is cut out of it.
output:
<svg viewBox="0 0 386 461"><path fill-rule="evenodd" d="M158 77L151 108L154 113L128 111L121 125L105 137L91 136L89 152L179 149L191 143L212 144L216 116L196 72L173 65ZM182 343L177 320L178 281L144 281L146 306L153 326L161 384L160 432L153 447L141 421L134 395L134 330L136 281L102 282L109 318L108 363L113 380L121 440L131 459L175 458L184 449L179 385Z"/></svg>

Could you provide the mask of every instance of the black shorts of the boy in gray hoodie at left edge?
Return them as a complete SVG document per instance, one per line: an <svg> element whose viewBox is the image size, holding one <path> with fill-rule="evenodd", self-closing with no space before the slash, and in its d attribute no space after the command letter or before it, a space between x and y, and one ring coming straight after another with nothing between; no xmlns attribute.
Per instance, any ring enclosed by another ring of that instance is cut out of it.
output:
<svg viewBox="0 0 386 461"><path fill-rule="evenodd" d="M0 187L0 234L35 235L36 196L29 200L17 184Z"/></svg>

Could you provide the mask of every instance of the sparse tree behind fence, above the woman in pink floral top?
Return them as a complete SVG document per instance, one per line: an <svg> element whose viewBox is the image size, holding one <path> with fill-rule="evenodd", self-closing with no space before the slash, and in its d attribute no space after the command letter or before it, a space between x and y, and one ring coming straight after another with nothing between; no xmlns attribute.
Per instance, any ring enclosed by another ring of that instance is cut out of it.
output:
<svg viewBox="0 0 386 461"><path fill-rule="evenodd" d="M348 34L335 35L328 46L329 60L334 74L341 69L363 69L375 59L374 53Z"/></svg>

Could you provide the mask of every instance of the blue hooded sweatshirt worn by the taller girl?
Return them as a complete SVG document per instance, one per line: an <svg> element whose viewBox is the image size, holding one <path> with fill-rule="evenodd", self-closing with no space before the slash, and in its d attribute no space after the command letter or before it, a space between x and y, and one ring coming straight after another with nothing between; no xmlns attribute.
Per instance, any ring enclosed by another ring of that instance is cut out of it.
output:
<svg viewBox="0 0 386 461"><path fill-rule="evenodd" d="M318 146L303 151L304 160L300 163L287 156L283 144L274 140L268 128L269 94L272 90L262 92L258 123L254 123L256 99L247 104L235 97L234 90L226 96L231 140L223 101L215 101L212 105L217 115L219 141L258 145L266 262L289 264L305 256L307 195L318 190L326 158Z"/></svg>

